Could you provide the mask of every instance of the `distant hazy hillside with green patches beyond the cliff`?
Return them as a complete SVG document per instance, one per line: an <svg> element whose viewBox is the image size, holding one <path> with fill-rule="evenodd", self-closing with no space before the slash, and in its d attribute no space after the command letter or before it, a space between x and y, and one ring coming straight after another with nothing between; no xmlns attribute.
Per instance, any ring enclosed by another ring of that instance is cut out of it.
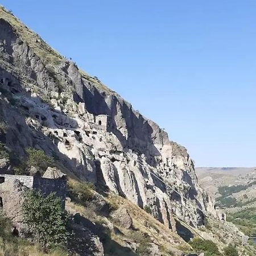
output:
<svg viewBox="0 0 256 256"><path fill-rule="evenodd" d="M197 168L199 184L216 196L217 205L250 237L256 234L255 168Z"/></svg>

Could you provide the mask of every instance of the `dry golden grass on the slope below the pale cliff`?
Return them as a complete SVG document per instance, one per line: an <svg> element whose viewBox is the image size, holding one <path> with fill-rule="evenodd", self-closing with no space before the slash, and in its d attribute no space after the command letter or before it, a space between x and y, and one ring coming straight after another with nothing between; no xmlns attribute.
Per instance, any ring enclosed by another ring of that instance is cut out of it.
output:
<svg viewBox="0 0 256 256"><path fill-rule="evenodd" d="M116 233L113 230L110 231L111 239L118 243L120 246L126 246L127 242L137 242L138 237L148 237L151 242L159 245L162 255L176 255L176 251L181 247L187 251L190 250L188 243L185 243L176 233L173 233L167 226L157 221L153 216L146 213L143 209L137 205L131 203L129 200L123 199L120 196L111 194L108 197L104 197L104 200L109 205L115 205L115 207L125 207L131 218L133 219L134 229L125 229L112 220L111 217L99 216L89 207L82 207L81 205L73 202L67 202L67 208L72 213L80 213L85 218L88 218L92 222L98 224L108 225L112 222L114 228L117 228L120 232ZM143 236L141 236L143 235ZM146 241L148 242L148 241Z"/></svg>

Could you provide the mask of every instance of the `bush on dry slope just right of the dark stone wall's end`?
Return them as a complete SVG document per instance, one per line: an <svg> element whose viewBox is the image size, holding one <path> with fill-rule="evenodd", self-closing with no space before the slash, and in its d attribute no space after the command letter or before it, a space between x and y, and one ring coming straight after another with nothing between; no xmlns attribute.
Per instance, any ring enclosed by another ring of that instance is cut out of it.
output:
<svg viewBox="0 0 256 256"><path fill-rule="evenodd" d="M89 182L68 181L68 196L81 205L85 205L86 201L92 199L94 189L94 185Z"/></svg>

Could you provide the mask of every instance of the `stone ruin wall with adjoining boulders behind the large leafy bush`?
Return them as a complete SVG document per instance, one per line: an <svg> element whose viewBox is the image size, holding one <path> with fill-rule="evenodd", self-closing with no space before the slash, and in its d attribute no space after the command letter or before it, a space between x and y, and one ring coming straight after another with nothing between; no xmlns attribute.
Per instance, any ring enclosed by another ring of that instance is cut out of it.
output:
<svg viewBox="0 0 256 256"><path fill-rule="evenodd" d="M23 220L22 204L27 189L41 191L44 195L51 192L62 200L65 208L67 191L66 175L56 168L48 167L43 177L0 174L0 210L10 218L14 230L20 235L26 234L26 224Z"/></svg>

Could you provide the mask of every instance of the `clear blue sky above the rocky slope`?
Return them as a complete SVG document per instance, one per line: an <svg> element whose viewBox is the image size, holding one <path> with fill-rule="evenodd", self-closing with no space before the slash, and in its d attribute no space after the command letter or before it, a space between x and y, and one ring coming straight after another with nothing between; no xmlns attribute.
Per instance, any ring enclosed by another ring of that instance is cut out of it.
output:
<svg viewBox="0 0 256 256"><path fill-rule="evenodd" d="M196 166L256 166L255 0L1 4L165 128Z"/></svg>

